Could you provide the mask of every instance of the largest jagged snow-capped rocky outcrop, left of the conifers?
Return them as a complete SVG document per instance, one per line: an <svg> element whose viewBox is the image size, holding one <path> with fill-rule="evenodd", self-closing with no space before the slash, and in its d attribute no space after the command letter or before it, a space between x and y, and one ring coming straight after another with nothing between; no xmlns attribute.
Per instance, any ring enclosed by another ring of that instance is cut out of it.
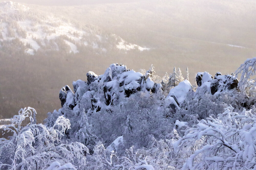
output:
<svg viewBox="0 0 256 170"><path fill-rule="evenodd" d="M111 64L105 73L99 76L91 71L86 75L87 82L73 82L75 94L68 86L60 90L62 107L66 104L73 109L79 99L83 98L91 101L92 111L100 111L102 107L119 104L120 98L130 97L138 91L158 93L162 90L161 84L154 83L150 78L146 79L143 74L131 71L123 64ZM101 95L104 97L100 97Z"/></svg>

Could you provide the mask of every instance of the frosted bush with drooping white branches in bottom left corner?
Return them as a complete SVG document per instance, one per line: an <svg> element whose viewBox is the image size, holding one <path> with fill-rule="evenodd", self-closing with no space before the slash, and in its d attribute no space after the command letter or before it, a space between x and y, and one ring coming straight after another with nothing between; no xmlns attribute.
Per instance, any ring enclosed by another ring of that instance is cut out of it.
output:
<svg viewBox="0 0 256 170"><path fill-rule="evenodd" d="M33 108L20 109L12 123L3 127L4 132L10 131L13 136L0 139L0 169L46 169L55 161L84 166L89 152L86 146L61 141L70 128L69 120L60 116L53 126L46 127L36 124L35 115Z"/></svg>

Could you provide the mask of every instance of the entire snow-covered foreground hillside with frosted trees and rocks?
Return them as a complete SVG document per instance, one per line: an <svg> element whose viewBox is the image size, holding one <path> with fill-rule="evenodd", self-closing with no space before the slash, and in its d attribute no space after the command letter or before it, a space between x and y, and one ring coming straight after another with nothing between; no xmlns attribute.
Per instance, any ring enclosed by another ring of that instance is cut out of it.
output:
<svg viewBox="0 0 256 170"><path fill-rule="evenodd" d="M199 72L194 85L188 69L185 78L174 68L163 79L153 65L90 71L61 88L62 108L44 124L28 107L3 126L13 136L0 139L0 167L254 169L255 69L248 59L232 74Z"/></svg>

